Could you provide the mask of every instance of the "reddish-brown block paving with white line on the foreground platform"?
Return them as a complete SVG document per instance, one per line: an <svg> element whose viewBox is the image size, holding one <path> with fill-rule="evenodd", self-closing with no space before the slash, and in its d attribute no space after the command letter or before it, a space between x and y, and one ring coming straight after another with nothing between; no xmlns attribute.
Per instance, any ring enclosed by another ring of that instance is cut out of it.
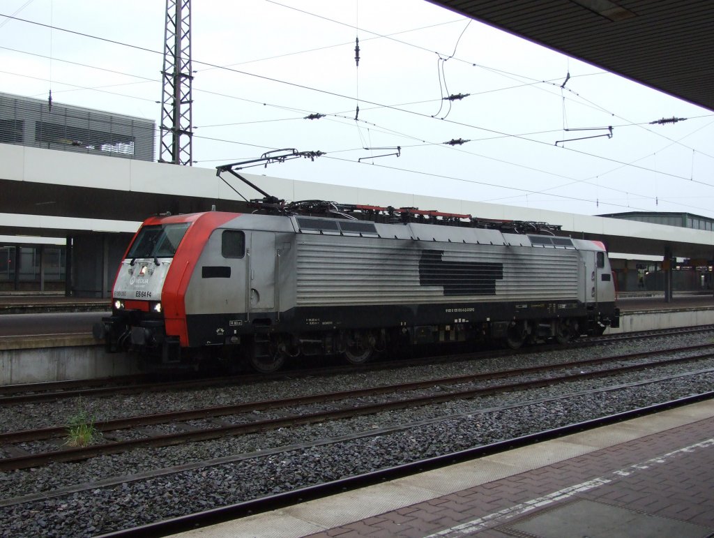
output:
<svg viewBox="0 0 714 538"><path fill-rule="evenodd" d="M656 418L646 423L652 428ZM376 525L344 527L350 534L330 529L314 536L409 538L451 530L443 536L612 538L638 529L653 537L705 537L714 534L714 442L708 439L714 439L714 416L381 514L367 520Z"/></svg>

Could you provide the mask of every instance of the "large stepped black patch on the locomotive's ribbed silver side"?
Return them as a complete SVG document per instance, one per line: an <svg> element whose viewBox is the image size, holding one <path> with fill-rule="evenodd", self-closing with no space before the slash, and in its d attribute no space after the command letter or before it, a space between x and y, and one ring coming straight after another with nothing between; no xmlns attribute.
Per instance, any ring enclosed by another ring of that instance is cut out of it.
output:
<svg viewBox="0 0 714 538"><path fill-rule="evenodd" d="M443 286L444 295L496 295L496 280L503 280L503 264L443 261L443 253L443 250L421 251L421 286Z"/></svg>

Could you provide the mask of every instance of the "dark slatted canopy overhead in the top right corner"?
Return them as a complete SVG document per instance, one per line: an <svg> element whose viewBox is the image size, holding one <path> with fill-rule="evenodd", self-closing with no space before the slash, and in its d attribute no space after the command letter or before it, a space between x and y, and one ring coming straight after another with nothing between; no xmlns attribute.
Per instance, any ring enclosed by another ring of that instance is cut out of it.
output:
<svg viewBox="0 0 714 538"><path fill-rule="evenodd" d="M710 0L429 0L714 110Z"/></svg>

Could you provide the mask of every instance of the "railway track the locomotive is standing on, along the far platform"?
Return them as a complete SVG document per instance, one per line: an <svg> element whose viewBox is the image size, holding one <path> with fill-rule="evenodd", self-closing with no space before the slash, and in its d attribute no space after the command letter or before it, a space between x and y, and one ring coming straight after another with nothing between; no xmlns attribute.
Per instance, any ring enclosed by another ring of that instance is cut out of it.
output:
<svg viewBox="0 0 714 538"><path fill-rule="evenodd" d="M518 350L488 349L480 352L446 354L438 357L418 357L408 359L410 366L435 364L449 361L478 360L508 355L534 352L562 351L565 349L580 349L593 345L606 345L642 339L666 337L670 335L695 334L712 332L714 325L700 327L683 327L678 329L660 329L625 334L613 334L605 337L590 337L569 344L546 344L538 347L528 347ZM199 389L202 387L223 387L236 384L246 384L271 379L290 377L316 377L330 374L348 374L365 372L374 369L389 369L405 364L405 359L382 360L360 366L338 365L335 367L312 367L276 374L240 374L228 377L211 377L203 379L179 379L178 381L156 380L154 374L126 376L107 379L76 379L64 382L31 383L0 386L0 406L29 402L46 402L56 399L76 397L104 397L116 394L141 394L144 392L164 392L169 390Z"/></svg>

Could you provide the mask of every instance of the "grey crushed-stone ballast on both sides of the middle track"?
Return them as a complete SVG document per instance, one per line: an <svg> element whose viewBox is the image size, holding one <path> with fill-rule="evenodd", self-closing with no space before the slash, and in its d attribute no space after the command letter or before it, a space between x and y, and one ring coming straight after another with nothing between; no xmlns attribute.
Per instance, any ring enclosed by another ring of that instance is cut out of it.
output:
<svg viewBox="0 0 714 538"><path fill-rule="evenodd" d="M430 367L404 367L356 376L253 384L161 394L117 396L82 401L17 404L0 409L6 432L61 424L62 417L87 409L96 420L248 402L254 399L294 397L374 386L408 380L516 368L533 364L565 362L645 349L668 349L712 341L710 333L666 337L605 347L562 352L533 353L503 359L456 362ZM595 417L624 412L635 407L665 402L710 390L714 360L695 365L681 364L656 371L631 372L616 378L588 379L558 384L533 391L495 397L466 399L416 409L404 409L341 421L280 429L261 434L139 449L126 454L58 463L39 469L0 472L0 519L4 537L84 537L126 529L183 514L221 507L277 492L289 491L353 476L383 467L412 462L448 452L477 447L544 429L583 422ZM615 384L694 370L700 374L630 387L618 392L579 394ZM573 395L576 394L576 395ZM544 399L570 395L555 401ZM510 409L495 410L511 405ZM369 437L354 439L355 432ZM343 437L340 442L297 447L324 439ZM202 462L218 458L235 461ZM172 472L172 467L195 464L195 468ZM129 479L141 472L166 469L151 479ZM106 487L76 492L61 489L85 487L107 480ZM55 492L44 500L13 502L8 499Z"/></svg>

